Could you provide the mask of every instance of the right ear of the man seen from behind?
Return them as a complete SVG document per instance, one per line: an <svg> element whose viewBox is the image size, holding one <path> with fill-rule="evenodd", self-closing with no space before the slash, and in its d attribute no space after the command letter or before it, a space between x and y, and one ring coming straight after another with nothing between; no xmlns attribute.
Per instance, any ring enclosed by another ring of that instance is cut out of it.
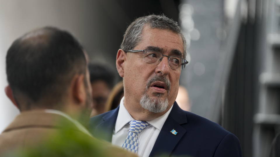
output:
<svg viewBox="0 0 280 157"><path fill-rule="evenodd" d="M72 85L70 93L72 93L73 100L78 103L84 103L86 101L86 88L84 85L84 74L77 74L72 79Z"/></svg>

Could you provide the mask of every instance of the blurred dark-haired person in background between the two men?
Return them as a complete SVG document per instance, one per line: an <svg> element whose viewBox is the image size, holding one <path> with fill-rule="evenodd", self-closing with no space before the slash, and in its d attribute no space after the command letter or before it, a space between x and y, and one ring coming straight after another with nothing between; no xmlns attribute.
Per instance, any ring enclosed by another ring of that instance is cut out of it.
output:
<svg viewBox="0 0 280 157"><path fill-rule="evenodd" d="M106 101L114 86L114 72L105 65L91 63L88 65L91 79L93 108L91 116L109 111Z"/></svg>

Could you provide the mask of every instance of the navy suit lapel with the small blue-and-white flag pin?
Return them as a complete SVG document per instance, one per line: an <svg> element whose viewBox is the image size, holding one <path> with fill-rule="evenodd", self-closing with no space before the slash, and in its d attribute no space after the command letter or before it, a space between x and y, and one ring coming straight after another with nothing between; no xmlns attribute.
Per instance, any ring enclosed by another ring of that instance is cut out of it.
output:
<svg viewBox="0 0 280 157"><path fill-rule="evenodd" d="M171 155L177 143L186 133L186 129L181 126L185 123L187 123L186 114L175 102L149 156ZM172 129L178 132L177 135L170 132Z"/></svg>

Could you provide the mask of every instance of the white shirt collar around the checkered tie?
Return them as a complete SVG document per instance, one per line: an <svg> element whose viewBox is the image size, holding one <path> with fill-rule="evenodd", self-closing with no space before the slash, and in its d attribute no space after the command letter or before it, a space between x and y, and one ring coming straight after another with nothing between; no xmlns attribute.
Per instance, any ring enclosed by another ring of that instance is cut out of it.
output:
<svg viewBox="0 0 280 157"><path fill-rule="evenodd" d="M161 128L164 125L164 122L166 121L172 108L173 108L173 105L164 115L157 117L156 119L147 121L147 122L150 125L154 126L156 129L161 130ZM124 107L124 97L123 97L120 102L119 113L118 113L118 117L117 117L116 125L115 125L115 132L116 133L119 132L131 120L135 120L135 119L133 119L131 117L131 115L128 113L128 111Z"/></svg>

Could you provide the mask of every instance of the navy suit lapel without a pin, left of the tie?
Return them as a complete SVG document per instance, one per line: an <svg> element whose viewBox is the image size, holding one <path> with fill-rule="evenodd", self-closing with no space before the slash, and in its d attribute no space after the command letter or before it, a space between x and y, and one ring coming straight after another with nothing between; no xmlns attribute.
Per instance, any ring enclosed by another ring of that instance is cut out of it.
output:
<svg viewBox="0 0 280 157"><path fill-rule="evenodd" d="M99 136L98 138L104 139L108 142L112 142L112 135L118 117L118 113L119 113L119 106L116 109L112 110L107 115L105 115L104 117L102 117L104 121L100 123L98 126L96 126L95 129L96 137Z"/></svg>

